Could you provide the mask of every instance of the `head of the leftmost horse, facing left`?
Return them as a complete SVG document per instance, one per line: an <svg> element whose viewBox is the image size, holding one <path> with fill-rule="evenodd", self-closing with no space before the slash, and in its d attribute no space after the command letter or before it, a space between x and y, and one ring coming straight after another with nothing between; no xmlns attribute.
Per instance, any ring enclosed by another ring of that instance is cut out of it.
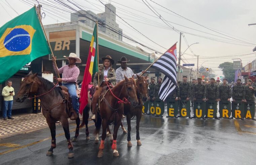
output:
<svg viewBox="0 0 256 165"><path fill-rule="evenodd" d="M37 73L29 74L21 82L21 88L16 95L16 102L24 102L27 97L33 97L37 93L38 83L36 82Z"/></svg>

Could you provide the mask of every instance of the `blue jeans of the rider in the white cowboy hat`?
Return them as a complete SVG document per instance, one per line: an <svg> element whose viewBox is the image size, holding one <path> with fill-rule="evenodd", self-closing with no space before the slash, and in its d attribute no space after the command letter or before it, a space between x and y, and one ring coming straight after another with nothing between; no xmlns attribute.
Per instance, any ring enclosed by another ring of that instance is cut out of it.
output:
<svg viewBox="0 0 256 165"><path fill-rule="evenodd" d="M68 88L68 93L71 98L73 109L76 111L76 113L79 113L79 102L76 94L76 85L73 83L66 83L62 85Z"/></svg>

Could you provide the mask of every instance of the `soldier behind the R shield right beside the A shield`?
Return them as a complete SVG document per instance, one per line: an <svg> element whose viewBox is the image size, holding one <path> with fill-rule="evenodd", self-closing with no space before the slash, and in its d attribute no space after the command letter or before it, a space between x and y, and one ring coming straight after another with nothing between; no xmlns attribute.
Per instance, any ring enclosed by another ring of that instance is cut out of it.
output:
<svg viewBox="0 0 256 165"><path fill-rule="evenodd" d="M241 79L237 78L236 84L232 87L232 103L231 107L235 106L234 103L235 101L242 101L246 102L245 100L245 87L241 84ZM232 114L233 115L233 114ZM233 118L232 116L230 117L231 119ZM245 120L242 118L241 120Z"/></svg>

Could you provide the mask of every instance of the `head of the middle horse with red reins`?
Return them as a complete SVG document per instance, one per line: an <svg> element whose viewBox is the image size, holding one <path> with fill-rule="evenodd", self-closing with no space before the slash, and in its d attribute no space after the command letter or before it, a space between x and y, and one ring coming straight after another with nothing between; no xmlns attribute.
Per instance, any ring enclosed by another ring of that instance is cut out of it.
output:
<svg viewBox="0 0 256 165"><path fill-rule="evenodd" d="M138 105L138 98L136 94L136 83L134 78L127 78L124 76L125 82L124 86L127 91L128 99L133 107L136 107Z"/></svg>

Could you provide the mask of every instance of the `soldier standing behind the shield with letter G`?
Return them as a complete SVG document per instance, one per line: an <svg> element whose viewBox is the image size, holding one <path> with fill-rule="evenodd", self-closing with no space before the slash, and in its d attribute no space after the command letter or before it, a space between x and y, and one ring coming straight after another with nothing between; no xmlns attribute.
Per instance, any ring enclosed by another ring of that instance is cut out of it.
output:
<svg viewBox="0 0 256 165"><path fill-rule="evenodd" d="M179 88L178 88L178 98L179 100L186 100L189 101L190 98L190 92L191 92L191 85L187 82L187 76L183 76L183 82L180 83ZM178 117L181 117L180 115ZM192 117L188 116L190 119Z"/></svg>

